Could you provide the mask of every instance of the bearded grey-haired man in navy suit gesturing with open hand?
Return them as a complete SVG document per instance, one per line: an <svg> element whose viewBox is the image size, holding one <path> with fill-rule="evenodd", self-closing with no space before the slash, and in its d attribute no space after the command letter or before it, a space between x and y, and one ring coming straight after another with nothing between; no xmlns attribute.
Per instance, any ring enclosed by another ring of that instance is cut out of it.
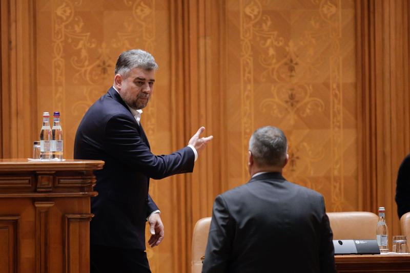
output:
<svg viewBox="0 0 410 273"><path fill-rule="evenodd" d="M140 122L153 92L157 64L148 52L122 52L114 86L81 120L74 142L75 159L104 160L95 172L98 196L91 200L91 272L151 272L145 252L145 225L151 247L163 239L158 207L148 194L150 178L193 171L198 153L212 139L199 135L170 155L153 155Z"/></svg>

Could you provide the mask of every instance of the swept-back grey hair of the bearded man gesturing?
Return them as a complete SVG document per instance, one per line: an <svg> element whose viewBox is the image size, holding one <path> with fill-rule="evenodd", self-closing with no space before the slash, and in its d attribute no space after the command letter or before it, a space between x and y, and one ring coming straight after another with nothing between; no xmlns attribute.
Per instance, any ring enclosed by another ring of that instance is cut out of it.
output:
<svg viewBox="0 0 410 273"><path fill-rule="evenodd" d="M134 68L141 68L144 70L157 70L158 65L154 57L147 51L141 49L131 49L122 52L117 59L115 65L115 75L120 74L126 77L128 72Z"/></svg>

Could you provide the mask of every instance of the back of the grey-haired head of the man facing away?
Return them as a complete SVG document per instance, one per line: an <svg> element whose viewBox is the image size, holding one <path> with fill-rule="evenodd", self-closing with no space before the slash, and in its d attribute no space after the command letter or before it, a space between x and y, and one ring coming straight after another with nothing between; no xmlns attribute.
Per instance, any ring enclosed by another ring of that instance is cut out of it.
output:
<svg viewBox="0 0 410 273"><path fill-rule="evenodd" d="M249 151L259 166L283 167L288 152L288 140L279 128L261 127L251 136Z"/></svg>

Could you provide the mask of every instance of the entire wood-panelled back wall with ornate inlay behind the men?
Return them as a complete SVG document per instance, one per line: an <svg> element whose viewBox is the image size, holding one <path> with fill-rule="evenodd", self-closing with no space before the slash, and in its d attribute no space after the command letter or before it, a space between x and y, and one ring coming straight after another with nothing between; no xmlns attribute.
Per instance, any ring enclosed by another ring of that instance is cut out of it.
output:
<svg viewBox="0 0 410 273"><path fill-rule="evenodd" d="M189 271L195 222L249 179L249 137L268 124L288 136L286 178L322 193L328 211L385 205L398 234L408 11L405 0L2 1L2 157L29 157L41 113L59 110L72 158L118 54L142 48L159 65L141 119L153 152L181 148L201 125L214 135L193 174L151 182L166 228L147 249L153 272Z"/></svg>

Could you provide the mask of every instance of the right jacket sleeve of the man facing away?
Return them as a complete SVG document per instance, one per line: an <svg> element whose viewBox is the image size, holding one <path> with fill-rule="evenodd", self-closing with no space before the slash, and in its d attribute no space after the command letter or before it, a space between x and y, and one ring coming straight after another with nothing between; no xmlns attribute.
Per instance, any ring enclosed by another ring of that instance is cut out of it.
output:
<svg viewBox="0 0 410 273"><path fill-rule="evenodd" d="M320 230L320 272L337 273L335 266L335 249L333 246L333 233L327 217L323 196L320 197L323 216Z"/></svg>

